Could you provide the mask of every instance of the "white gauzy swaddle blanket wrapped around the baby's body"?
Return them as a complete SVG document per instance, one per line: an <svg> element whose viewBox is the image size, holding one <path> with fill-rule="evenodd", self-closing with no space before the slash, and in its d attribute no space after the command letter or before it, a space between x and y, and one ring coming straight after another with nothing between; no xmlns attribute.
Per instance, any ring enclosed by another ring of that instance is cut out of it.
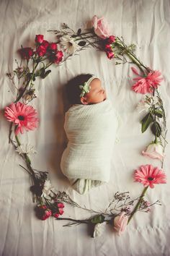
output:
<svg viewBox="0 0 170 256"><path fill-rule="evenodd" d="M68 145L61 158L61 170L80 194L109 182L118 121L109 100L76 104L66 112Z"/></svg>

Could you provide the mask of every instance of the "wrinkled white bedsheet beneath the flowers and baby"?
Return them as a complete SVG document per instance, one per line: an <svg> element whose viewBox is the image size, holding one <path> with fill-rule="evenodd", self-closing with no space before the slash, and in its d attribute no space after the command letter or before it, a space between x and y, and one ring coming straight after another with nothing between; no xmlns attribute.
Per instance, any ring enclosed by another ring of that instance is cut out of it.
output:
<svg viewBox="0 0 170 256"><path fill-rule="evenodd" d="M32 46L35 34L43 34L47 40L55 40L46 30L59 28L66 22L75 30L83 28L86 20L94 14L106 17L112 33L122 35L126 43L137 45L137 56L144 64L159 69L164 75L160 87L167 111L167 127L170 124L170 1L169 0L72 0L72 1L22 1L1 0L0 2L0 109L14 101L14 88L6 72L16 66L17 49ZM64 103L63 85L73 75L91 72L100 77L112 102L122 117L120 142L112 158L112 173L109 184L91 189L87 195L79 195L71 189L59 167L61 154L66 147L63 130ZM37 155L32 164L39 170L48 170L53 186L65 190L73 200L87 208L104 210L115 192L130 191L138 197L143 189L133 183L133 171L141 164L158 161L144 158L140 152L151 141L151 133L140 132L143 114L135 111L141 98L130 90L133 77L128 64L115 66L104 53L94 49L83 51L79 56L52 67L45 80L36 82L39 90L34 101L40 115L40 127L22 136L22 141L35 145ZM107 227L104 236L91 239L86 226L63 227L61 221L49 218L39 221L35 217L34 205L29 192L30 179L19 164L22 159L8 144L9 123L0 113L0 255L3 256L144 256L170 255L170 190L169 167L170 146L166 147L164 170L168 184L148 189L148 200L161 200L162 206L152 208L151 213L137 213L127 231L117 236ZM169 133L167 140L169 140ZM170 141L170 140L169 140ZM65 208L65 217L89 218L76 208ZM64 217L63 216L63 217Z"/></svg>

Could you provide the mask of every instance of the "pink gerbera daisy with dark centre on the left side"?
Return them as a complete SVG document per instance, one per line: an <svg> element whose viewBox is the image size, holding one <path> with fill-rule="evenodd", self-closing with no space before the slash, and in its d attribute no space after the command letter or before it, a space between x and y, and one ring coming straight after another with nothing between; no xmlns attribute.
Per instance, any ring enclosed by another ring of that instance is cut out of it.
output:
<svg viewBox="0 0 170 256"><path fill-rule="evenodd" d="M4 116L8 121L13 121L16 125L15 134L19 132L35 129L39 119L37 118L37 111L32 106L25 105L21 102L12 103L5 108Z"/></svg>

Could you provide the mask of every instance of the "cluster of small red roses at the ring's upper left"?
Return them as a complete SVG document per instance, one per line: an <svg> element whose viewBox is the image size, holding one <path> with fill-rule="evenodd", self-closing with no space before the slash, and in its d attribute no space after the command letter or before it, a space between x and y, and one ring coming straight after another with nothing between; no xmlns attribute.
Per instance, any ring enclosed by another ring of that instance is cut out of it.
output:
<svg viewBox="0 0 170 256"><path fill-rule="evenodd" d="M30 59L32 56L42 57L47 55L51 62L59 64L63 59L63 51L58 51L57 43L49 43L44 40L44 35L35 36L36 50L30 47L19 50L23 59Z"/></svg>

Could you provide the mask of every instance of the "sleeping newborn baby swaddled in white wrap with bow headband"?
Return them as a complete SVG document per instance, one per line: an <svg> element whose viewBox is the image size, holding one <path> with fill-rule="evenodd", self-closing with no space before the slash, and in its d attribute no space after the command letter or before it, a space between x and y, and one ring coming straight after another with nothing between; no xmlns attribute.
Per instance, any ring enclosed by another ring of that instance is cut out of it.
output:
<svg viewBox="0 0 170 256"><path fill-rule="evenodd" d="M118 116L102 82L91 74L74 77L66 85L72 104L65 116L68 145L61 170L80 194L109 182Z"/></svg>

